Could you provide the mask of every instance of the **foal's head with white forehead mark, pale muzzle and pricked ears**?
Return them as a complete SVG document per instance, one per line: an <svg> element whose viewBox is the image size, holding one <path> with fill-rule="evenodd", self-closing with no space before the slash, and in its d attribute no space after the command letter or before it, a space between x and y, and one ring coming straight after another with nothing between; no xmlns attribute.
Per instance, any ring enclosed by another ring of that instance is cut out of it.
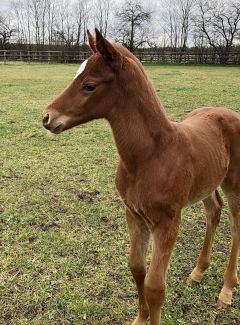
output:
<svg viewBox="0 0 240 325"><path fill-rule="evenodd" d="M93 54L82 63L72 83L43 113L43 125L53 133L93 119L107 118L123 96L122 88L128 81L131 65L143 71L128 50L109 43L98 30L96 42L90 33L88 38Z"/></svg>

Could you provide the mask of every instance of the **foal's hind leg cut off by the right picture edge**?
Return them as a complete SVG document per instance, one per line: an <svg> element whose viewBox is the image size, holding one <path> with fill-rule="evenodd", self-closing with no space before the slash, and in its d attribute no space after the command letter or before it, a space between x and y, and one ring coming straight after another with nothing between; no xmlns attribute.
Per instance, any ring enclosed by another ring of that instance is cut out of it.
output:
<svg viewBox="0 0 240 325"><path fill-rule="evenodd" d="M240 176L240 173L239 173ZM235 179L235 184L223 184L231 214L229 216L232 234L232 249L229 263L224 274L224 286L219 294L219 305L231 305L233 289L237 286L238 256L240 250L240 177Z"/></svg>

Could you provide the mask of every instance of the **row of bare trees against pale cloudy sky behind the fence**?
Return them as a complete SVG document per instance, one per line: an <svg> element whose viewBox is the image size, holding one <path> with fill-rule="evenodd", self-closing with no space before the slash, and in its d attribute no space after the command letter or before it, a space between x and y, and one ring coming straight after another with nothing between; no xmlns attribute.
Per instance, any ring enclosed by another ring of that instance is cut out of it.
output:
<svg viewBox="0 0 240 325"><path fill-rule="evenodd" d="M240 0L13 0L0 11L0 48L87 49L94 27L132 52L212 48L227 63L240 42Z"/></svg>

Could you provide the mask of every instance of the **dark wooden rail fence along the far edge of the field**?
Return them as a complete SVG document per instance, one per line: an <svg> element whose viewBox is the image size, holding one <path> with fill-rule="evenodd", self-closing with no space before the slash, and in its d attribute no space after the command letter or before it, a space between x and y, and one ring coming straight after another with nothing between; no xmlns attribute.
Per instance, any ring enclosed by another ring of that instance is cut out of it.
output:
<svg viewBox="0 0 240 325"><path fill-rule="evenodd" d="M84 61L90 52L87 51L26 51L0 50L0 62L47 62L47 63L78 63ZM185 52L169 49L137 50L134 53L141 62L159 63L207 63L219 64L218 55L210 49L202 51L188 49ZM234 49L229 56L229 64L240 64L240 49Z"/></svg>

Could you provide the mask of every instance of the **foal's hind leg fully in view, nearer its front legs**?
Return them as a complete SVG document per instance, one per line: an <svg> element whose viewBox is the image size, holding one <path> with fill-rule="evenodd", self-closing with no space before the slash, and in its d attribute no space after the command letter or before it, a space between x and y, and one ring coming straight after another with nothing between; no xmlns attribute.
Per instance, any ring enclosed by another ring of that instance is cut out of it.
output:
<svg viewBox="0 0 240 325"><path fill-rule="evenodd" d="M203 248L197 260L197 265L188 278L188 282L201 282L204 271L210 265L210 255L216 228L219 224L221 209L223 206L222 199L216 190L211 196L203 200L206 211L206 233Z"/></svg>

